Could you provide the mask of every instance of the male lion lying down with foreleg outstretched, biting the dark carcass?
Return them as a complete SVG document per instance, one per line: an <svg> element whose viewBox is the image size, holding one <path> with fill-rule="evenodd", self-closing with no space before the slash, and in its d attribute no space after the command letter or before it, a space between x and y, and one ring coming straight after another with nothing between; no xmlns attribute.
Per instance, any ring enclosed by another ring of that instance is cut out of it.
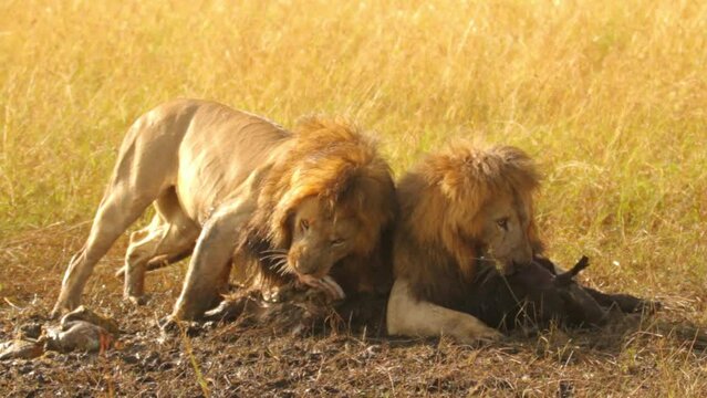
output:
<svg viewBox="0 0 707 398"><path fill-rule="evenodd" d="M458 143L405 175L388 333L447 334L464 343L500 336L465 308L481 264L510 274L541 252L532 206L538 186L531 158L510 146Z"/></svg>

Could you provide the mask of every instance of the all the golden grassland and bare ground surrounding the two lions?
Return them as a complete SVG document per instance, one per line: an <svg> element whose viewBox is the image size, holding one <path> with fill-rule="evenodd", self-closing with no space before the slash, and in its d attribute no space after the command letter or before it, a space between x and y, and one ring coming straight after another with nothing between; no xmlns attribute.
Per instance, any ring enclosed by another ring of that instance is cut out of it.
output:
<svg viewBox="0 0 707 398"><path fill-rule="evenodd" d="M397 175L459 137L517 145L544 175L550 256L588 254L582 281L665 304L621 331L480 348L228 326L157 343L185 265L150 275L148 305L128 307L112 276L123 239L84 302L139 349L2 363L3 395L707 394L706 348L680 333L707 327L703 1L3 0L0 65L0 339L46 316L124 132L175 97L284 126L347 115Z"/></svg>

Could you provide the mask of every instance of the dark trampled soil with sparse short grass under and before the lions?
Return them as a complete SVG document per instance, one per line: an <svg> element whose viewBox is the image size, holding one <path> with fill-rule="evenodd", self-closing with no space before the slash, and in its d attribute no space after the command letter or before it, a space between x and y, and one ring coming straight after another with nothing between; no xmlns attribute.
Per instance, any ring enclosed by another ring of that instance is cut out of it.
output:
<svg viewBox="0 0 707 398"><path fill-rule="evenodd" d="M46 318L71 250L83 230L56 227L0 242L0 342ZM595 329L514 332L471 347L441 339L402 339L372 329L293 335L268 325L230 323L165 336L181 265L148 277L152 296L121 300L113 272L118 244L96 269L84 304L123 331L103 354L48 352L0 363L2 396L701 396L707 392L700 302L659 297L652 316L616 317ZM591 272L591 271L589 271ZM320 328L318 328L320 329Z"/></svg>

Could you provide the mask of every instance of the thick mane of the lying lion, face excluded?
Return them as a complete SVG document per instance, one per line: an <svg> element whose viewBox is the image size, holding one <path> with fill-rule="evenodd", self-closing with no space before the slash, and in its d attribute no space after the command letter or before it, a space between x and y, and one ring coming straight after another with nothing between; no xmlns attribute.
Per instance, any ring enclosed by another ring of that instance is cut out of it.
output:
<svg viewBox="0 0 707 398"><path fill-rule="evenodd" d="M511 192L532 211L539 180L532 159L511 146L481 149L464 142L429 155L398 182L395 277L409 281L417 300L459 308L484 249L484 205ZM528 238L541 252L532 219Z"/></svg>

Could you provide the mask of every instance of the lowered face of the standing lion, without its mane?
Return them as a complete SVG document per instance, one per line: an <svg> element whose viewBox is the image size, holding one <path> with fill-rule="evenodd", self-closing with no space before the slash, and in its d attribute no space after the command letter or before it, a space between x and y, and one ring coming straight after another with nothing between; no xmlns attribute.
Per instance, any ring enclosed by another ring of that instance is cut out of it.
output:
<svg viewBox="0 0 707 398"><path fill-rule="evenodd" d="M330 210L315 197L294 209L288 266L299 275L322 277L332 265L351 254L360 232L358 221L345 209Z"/></svg>

